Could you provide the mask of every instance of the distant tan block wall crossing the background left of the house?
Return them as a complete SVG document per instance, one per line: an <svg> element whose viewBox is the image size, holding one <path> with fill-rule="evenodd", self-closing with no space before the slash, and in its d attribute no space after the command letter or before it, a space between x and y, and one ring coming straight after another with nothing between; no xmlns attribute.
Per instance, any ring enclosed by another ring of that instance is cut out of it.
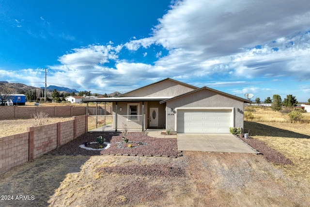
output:
<svg viewBox="0 0 310 207"><path fill-rule="evenodd" d="M86 107L84 106L1 106L0 107L0 119L6 118L30 118L36 113L46 113L48 116L80 116L86 114Z"/></svg>

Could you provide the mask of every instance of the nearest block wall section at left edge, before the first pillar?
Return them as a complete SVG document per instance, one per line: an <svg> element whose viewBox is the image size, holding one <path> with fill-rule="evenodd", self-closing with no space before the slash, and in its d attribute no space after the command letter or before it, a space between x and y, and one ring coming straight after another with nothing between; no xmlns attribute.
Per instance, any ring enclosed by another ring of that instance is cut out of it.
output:
<svg viewBox="0 0 310 207"><path fill-rule="evenodd" d="M29 133L0 137L0 173L28 161Z"/></svg>

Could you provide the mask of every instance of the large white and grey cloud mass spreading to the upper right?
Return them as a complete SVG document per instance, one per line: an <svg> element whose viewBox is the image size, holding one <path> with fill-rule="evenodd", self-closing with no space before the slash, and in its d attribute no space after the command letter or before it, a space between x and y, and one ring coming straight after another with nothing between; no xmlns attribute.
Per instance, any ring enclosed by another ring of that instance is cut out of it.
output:
<svg viewBox="0 0 310 207"><path fill-rule="evenodd" d="M113 85L128 91L124 86L171 77L185 82L197 79L214 87L235 85L231 92L271 93L271 87L259 84L283 77L310 80L309 8L308 0L175 1L149 37L133 36L114 47L109 41L106 46L75 48L59 58L62 65L51 68L62 75L74 72L68 77L81 86ZM142 48L145 57L153 54L147 50L152 45L160 48L154 63L120 55L121 50L125 54ZM110 61L114 68L106 65Z"/></svg>

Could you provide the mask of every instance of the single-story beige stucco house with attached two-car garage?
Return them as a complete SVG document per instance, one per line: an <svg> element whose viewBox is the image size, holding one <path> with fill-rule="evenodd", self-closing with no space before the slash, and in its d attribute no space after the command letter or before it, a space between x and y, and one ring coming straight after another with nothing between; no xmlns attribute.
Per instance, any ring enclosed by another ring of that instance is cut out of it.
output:
<svg viewBox="0 0 310 207"><path fill-rule="evenodd" d="M112 102L113 129L164 128L178 133L230 133L243 128L248 99L170 78L117 97L84 99ZM87 105L88 106L88 105Z"/></svg>

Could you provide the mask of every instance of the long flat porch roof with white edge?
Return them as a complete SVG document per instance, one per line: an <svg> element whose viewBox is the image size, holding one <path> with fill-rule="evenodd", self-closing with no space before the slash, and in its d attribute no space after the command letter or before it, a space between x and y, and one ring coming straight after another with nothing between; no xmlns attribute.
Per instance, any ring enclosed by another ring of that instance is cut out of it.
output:
<svg viewBox="0 0 310 207"><path fill-rule="evenodd" d="M115 102L115 101L163 101L172 96L142 96L142 97L109 97L109 98L90 98L84 102Z"/></svg>

